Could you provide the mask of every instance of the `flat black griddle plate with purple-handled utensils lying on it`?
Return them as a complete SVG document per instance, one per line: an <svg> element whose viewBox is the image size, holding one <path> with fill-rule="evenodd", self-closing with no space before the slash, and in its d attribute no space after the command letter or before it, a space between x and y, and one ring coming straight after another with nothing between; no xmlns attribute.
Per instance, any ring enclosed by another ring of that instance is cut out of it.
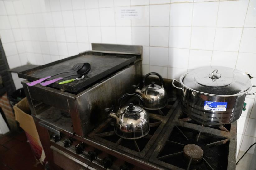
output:
<svg viewBox="0 0 256 170"><path fill-rule="evenodd" d="M50 87L55 87L59 89L64 89L69 92L77 92L80 89L87 87L88 85L96 82L97 80L100 80L101 78L104 78L105 76L110 75L111 73L125 67L126 65L129 65L130 63L134 62L136 60L136 56L127 55L126 56L116 56L116 55L110 55L110 54L102 54L98 53L99 55L95 55L97 53L84 53L83 56L72 56L69 58L65 58L63 60L58 60L53 63L49 63L46 65L42 65L33 69L29 69L23 72L18 73L20 78L27 79L29 81L35 81L40 78L44 78L46 76L51 76L58 74L60 72L70 71L70 69L75 65L76 63L90 63L91 65L91 71L86 74L86 77L79 81L73 81L66 84L58 84L61 81L69 80L72 78L78 77L76 76L70 76L68 78L64 78L63 80L59 80L51 85ZM58 77L65 77L71 75L70 73L64 73L57 75L53 78ZM50 80L48 79L48 80Z"/></svg>

